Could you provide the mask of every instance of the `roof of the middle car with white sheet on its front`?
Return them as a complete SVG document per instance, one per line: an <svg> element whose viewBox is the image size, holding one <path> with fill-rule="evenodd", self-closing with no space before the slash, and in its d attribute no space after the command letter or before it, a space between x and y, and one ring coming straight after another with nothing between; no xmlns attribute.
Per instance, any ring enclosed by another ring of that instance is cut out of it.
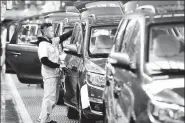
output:
<svg viewBox="0 0 185 123"><path fill-rule="evenodd" d="M96 4L94 4L96 3ZM81 13L81 19L88 20L91 25L115 25L119 24L123 13L118 2L110 2L110 6L104 6L105 1L89 3L87 10ZM99 3L99 6L96 6ZM94 7L95 6L95 7Z"/></svg>

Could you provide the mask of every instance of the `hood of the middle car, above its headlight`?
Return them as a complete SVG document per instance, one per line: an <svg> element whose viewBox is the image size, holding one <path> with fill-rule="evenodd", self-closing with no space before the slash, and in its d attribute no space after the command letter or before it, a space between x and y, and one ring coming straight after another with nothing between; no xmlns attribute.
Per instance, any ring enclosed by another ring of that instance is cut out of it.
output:
<svg viewBox="0 0 185 123"><path fill-rule="evenodd" d="M107 58L93 58L85 60L85 67L87 71L105 74L105 64Z"/></svg>

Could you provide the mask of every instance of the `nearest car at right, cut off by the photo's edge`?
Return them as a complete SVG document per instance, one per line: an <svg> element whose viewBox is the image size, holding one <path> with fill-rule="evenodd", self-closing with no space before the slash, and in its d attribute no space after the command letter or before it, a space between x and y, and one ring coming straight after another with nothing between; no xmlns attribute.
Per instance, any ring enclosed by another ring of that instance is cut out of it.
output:
<svg viewBox="0 0 185 123"><path fill-rule="evenodd" d="M184 4L125 14L105 69L105 123L183 123Z"/></svg>

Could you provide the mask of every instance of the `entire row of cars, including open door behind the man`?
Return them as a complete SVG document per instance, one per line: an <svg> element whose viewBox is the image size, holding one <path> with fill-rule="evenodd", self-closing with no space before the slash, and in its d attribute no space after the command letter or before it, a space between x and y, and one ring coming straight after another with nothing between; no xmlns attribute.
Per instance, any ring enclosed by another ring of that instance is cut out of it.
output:
<svg viewBox="0 0 185 123"><path fill-rule="evenodd" d="M130 4L134 9L128 11ZM79 123L184 122L184 4L128 2L120 9L119 2L101 1L62 15L47 18L56 36L73 28L62 46L67 68L62 97L69 118ZM35 40L19 43L26 39L20 30L33 28L27 25L17 26L7 43L7 67L20 82L39 84Z"/></svg>

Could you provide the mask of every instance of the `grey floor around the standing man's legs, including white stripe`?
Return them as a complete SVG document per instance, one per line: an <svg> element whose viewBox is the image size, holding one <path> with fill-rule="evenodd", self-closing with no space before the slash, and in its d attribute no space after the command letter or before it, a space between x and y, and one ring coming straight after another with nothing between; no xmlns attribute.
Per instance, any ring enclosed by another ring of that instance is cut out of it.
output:
<svg viewBox="0 0 185 123"><path fill-rule="evenodd" d="M28 86L16 74L1 76L1 123L37 123L43 98L43 89L35 84ZM51 115L58 123L77 123L67 117L67 107L57 105Z"/></svg>

